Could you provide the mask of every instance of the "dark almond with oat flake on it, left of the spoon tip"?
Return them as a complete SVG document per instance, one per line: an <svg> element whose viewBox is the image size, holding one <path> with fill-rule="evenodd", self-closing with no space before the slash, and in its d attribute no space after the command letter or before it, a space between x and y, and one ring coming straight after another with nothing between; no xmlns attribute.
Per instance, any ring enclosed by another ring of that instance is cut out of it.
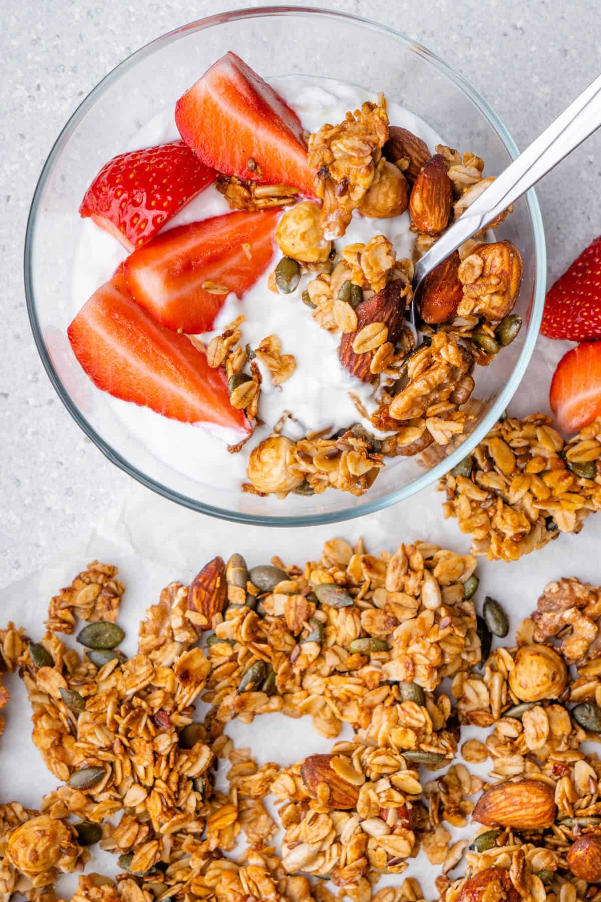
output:
<svg viewBox="0 0 601 902"><path fill-rule="evenodd" d="M357 313L357 328L354 332L348 332L342 336L338 359L345 370L348 370L361 382L372 382L376 378L376 373L372 373L370 367L378 345L372 350L357 354L353 350L353 344L365 327L379 323L381 327L387 329L383 341L396 345L405 325L405 285L400 280L389 282L385 288L378 291L378 294L361 301L355 312ZM378 330L378 336L384 334L381 327Z"/></svg>

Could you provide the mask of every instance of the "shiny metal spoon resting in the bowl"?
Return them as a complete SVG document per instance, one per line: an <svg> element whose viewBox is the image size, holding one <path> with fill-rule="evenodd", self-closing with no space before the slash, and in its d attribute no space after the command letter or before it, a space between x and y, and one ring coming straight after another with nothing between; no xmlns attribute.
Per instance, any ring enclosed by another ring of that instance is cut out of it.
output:
<svg viewBox="0 0 601 902"><path fill-rule="evenodd" d="M503 213L514 200L521 198L600 125L601 75L496 177L457 222L415 263L414 299L423 280L435 266ZM407 311L407 319L415 328L415 300Z"/></svg>

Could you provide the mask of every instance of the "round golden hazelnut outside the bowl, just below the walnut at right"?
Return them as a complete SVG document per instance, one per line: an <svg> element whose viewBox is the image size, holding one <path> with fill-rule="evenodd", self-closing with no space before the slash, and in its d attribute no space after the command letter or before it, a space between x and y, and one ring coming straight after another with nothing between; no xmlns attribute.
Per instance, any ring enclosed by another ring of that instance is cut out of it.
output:
<svg viewBox="0 0 601 902"><path fill-rule="evenodd" d="M521 702L540 702L560 697L568 683L568 670L560 653L549 645L524 645L517 649L508 679L509 688Z"/></svg>

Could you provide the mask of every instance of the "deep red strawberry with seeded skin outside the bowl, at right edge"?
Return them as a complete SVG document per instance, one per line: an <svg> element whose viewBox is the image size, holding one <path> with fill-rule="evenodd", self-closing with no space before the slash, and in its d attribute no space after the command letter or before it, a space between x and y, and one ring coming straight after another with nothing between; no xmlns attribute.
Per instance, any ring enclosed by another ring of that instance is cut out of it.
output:
<svg viewBox="0 0 601 902"><path fill-rule="evenodd" d="M541 332L548 338L601 338L601 235L547 291Z"/></svg>

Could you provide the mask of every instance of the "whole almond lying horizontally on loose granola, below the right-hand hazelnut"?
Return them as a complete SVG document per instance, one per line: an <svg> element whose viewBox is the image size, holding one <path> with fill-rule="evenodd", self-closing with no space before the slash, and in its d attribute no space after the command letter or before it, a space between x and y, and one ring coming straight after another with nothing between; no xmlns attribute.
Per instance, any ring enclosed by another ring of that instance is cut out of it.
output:
<svg viewBox="0 0 601 902"><path fill-rule="evenodd" d="M497 783L478 799L472 819L489 827L542 830L555 820L555 794L542 780L524 778L515 783Z"/></svg>

